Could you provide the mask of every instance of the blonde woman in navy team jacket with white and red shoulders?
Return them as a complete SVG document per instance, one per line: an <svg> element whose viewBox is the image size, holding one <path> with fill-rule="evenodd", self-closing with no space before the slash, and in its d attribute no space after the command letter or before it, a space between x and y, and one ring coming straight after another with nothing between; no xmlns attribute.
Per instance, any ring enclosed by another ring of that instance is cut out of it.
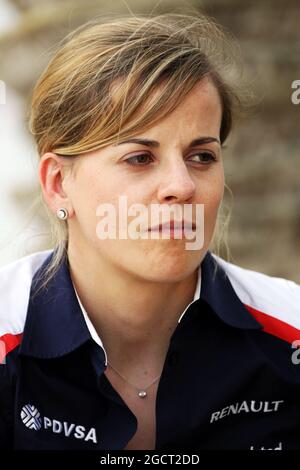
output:
<svg viewBox="0 0 300 470"><path fill-rule="evenodd" d="M1 271L1 447L299 448L300 287L209 249L239 103L227 43L200 14L95 20L36 84L56 241Z"/></svg>

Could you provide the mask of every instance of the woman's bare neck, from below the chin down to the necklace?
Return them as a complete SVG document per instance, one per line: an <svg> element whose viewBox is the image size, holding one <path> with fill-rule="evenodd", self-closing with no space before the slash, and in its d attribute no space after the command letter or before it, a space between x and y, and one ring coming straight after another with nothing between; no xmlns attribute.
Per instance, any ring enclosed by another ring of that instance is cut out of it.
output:
<svg viewBox="0 0 300 470"><path fill-rule="evenodd" d="M178 282L149 282L102 257L78 253L69 244L71 277L108 361L117 368L128 362L148 364L150 358L159 361L180 315L193 300L197 270Z"/></svg>

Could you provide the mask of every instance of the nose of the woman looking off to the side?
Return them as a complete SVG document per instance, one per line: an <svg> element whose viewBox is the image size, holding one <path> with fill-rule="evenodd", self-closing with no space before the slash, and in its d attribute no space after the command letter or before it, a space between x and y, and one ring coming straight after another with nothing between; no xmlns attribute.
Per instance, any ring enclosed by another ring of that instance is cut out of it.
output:
<svg viewBox="0 0 300 470"><path fill-rule="evenodd" d="M157 199L159 203L188 201L195 193L195 183L182 156L172 158L161 174Z"/></svg>

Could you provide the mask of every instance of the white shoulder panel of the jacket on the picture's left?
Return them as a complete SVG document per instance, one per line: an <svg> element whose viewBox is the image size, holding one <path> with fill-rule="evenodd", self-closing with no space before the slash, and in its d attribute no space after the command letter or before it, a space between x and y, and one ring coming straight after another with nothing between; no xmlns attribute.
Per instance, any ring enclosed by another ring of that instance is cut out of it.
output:
<svg viewBox="0 0 300 470"><path fill-rule="evenodd" d="M51 252L39 251L0 269L0 339L23 332L32 278Z"/></svg>

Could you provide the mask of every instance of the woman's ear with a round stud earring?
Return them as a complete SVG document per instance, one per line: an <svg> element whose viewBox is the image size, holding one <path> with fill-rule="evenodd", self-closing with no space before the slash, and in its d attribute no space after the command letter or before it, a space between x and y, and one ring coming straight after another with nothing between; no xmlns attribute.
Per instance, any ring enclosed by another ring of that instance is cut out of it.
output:
<svg viewBox="0 0 300 470"><path fill-rule="evenodd" d="M74 210L63 188L64 170L63 157L51 152L47 152L41 157L38 173L47 206L54 214L58 209L64 207L68 210L69 217L72 217Z"/></svg>

